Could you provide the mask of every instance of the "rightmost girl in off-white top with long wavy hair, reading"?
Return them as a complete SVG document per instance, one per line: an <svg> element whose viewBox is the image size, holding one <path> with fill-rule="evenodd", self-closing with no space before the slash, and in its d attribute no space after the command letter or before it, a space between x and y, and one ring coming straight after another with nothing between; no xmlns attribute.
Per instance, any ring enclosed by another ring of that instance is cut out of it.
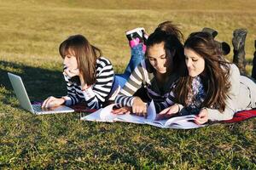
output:
<svg viewBox="0 0 256 170"><path fill-rule="evenodd" d="M196 114L195 122L203 124L228 120L236 111L255 108L256 84L224 59L211 34L192 33L184 43L184 54L187 73L168 97L172 106L160 116Z"/></svg>

